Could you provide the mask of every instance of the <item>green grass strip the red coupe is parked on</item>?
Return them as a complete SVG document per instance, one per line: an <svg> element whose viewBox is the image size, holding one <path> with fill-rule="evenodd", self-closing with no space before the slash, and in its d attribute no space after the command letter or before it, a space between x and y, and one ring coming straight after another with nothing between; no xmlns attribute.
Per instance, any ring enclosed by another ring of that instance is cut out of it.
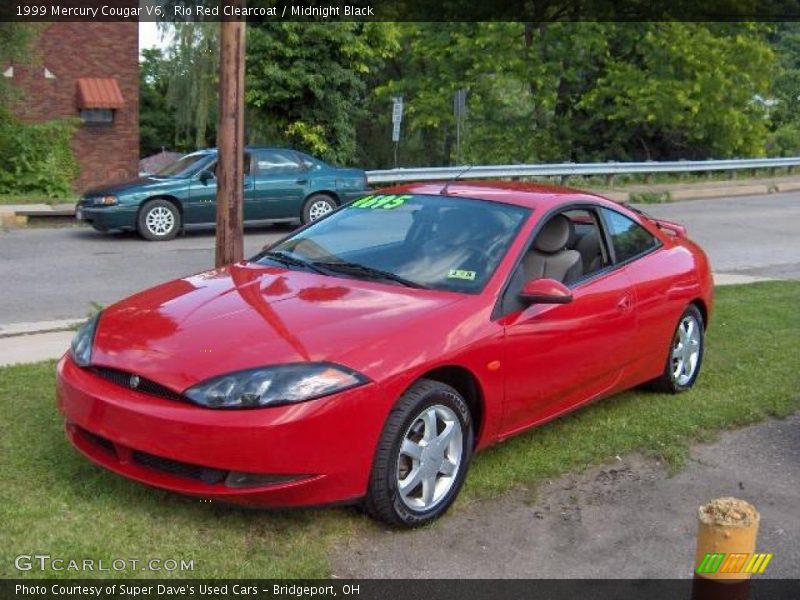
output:
<svg viewBox="0 0 800 600"><path fill-rule="evenodd" d="M792 413L800 394L798 306L800 282L720 288L693 391L622 394L482 453L456 510L631 452L679 468L693 441ZM170 577L321 577L338 540L376 527L351 509L263 512L203 504L94 467L64 438L53 367L0 369L0 577L24 576L14 557L37 552L107 563L195 561L193 572L162 573Z"/></svg>

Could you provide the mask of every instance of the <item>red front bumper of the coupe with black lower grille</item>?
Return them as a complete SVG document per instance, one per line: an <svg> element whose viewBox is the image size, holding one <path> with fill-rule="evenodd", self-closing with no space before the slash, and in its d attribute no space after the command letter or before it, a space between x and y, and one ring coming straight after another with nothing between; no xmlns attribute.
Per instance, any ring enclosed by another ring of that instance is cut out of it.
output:
<svg viewBox="0 0 800 600"><path fill-rule="evenodd" d="M365 495L386 417L375 390L370 383L295 405L214 410L127 389L69 356L56 384L67 436L95 463L173 492L264 507ZM214 477L230 471L301 478L237 488Z"/></svg>

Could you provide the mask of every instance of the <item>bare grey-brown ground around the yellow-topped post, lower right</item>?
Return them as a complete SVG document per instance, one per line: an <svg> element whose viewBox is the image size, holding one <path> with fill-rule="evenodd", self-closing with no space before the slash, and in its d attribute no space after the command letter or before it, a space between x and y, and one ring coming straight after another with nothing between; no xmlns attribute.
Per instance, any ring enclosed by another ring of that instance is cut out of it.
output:
<svg viewBox="0 0 800 600"><path fill-rule="evenodd" d="M691 577L698 507L736 496L761 513L761 577L800 577L800 414L697 445L683 470L641 457L455 507L417 531L374 530L333 557L337 577Z"/></svg>

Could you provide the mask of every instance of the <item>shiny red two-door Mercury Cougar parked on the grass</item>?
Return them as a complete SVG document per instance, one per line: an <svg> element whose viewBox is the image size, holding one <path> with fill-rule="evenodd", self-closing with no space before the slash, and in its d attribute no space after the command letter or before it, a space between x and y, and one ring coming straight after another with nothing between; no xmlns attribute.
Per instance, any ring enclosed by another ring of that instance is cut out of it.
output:
<svg viewBox="0 0 800 600"><path fill-rule="evenodd" d="M82 453L142 483L414 526L475 451L640 384L690 388L712 296L674 223L564 188L408 185L106 308L58 405Z"/></svg>

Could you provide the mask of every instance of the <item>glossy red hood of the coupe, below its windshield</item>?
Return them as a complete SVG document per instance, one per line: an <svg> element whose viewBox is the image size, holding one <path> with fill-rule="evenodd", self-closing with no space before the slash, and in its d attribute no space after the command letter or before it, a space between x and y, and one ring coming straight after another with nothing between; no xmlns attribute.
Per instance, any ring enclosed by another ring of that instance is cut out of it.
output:
<svg viewBox="0 0 800 600"><path fill-rule="evenodd" d="M371 345L411 324L424 327L462 298L239 263L165 283L105 309L92 364L176 391L231 371L293 362L336 362L369 376L375 364Z"/></svg>

